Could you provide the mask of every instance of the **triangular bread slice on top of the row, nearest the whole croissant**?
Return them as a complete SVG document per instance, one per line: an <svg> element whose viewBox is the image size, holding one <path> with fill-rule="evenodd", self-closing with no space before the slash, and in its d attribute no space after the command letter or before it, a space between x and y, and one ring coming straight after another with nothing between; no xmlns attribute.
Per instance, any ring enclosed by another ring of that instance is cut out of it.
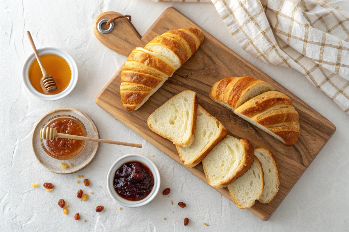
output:
<svg viewBox="0 0 349 232"><path fill-rule="evenodd" d="M194 141L198 96L185 90L156 109L148 118L148 127L173 144L187 147Z"/></svg>

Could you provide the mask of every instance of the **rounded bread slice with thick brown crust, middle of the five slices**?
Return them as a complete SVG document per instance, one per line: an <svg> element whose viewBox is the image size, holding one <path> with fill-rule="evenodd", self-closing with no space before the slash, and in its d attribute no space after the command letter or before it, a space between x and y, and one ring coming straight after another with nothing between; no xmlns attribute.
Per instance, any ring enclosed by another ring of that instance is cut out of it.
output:
<svg viewBox="0 0 349 232"><path fill-rule="evenodd" d="M202 166L207 182L222 188L244 175L251 168L253 159L250 141L228 135L202 160Z"/></svg>

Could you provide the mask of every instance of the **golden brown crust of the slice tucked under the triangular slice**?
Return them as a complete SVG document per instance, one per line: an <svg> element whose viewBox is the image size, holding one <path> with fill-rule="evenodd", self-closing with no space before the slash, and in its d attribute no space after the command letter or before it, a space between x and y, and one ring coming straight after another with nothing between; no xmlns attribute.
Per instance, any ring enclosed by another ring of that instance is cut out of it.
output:
<svg viewBox="0 0 349 232"><path fill-rule="evenodd" d="M198 104L198 106L201 106L200 104ZM206 112L206 114L208 114L210 117L213 117L209 112L207 112L207 110L205 110L202 106L201 106L202 110ZM220 124L220 135L217 137L217 139L215 139L214 141L211 142L210 146L207 147L207 149L193 162L191 163L185 163L184 160L182 159L182 154L178 149L178 145L176 145L176 149L179 155L180 160L183 162L183 164L185 166L187 166L188 168L193 168L196 165L198 165L203 159L205 159L205 157L208 155L208 153L210 153L212 151L212 149L223 140L223 138L225 138L225 136L227 136L228 131L227 129L225 129L225 127L223 126L223 124L218 121L215 117L213 117L219 124Z"/></svg>

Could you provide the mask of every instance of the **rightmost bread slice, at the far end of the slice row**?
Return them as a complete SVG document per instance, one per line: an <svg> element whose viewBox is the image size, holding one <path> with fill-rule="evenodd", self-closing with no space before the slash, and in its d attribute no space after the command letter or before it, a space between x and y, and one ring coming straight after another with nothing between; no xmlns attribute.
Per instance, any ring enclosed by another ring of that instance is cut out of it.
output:
<svg viewBox="0 0 349 232"><path fill-rule="evenodd" d="M273 153L263 147L254 149L254 155L261 162L264 172L264 190L258 201L266 204L272 201L279 191L279 167Z"/></svg>

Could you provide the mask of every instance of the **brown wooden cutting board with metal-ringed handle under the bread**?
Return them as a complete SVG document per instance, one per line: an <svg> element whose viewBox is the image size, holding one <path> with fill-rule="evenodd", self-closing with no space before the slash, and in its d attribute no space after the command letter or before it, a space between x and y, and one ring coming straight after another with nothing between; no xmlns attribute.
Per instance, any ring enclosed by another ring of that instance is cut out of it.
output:
<svg viewBox="0 0 349 232"><path fill-rule="evenodd" d="M265 147L272 151L276 157L280 171L279 192L270 203L261 204L256 201L248 209L262 220L267 221L328 139L331 138L336 130L335 126L285 87L248 63L173 7L166 9L143 37L139 35L126 18L117 19L114 22L113 31L109 34L102 34L97 31L96 25L99 21L119 15L121 14L112 11L99 15L95 19L94 32L98 40L105 46L125 56L128 56L135 47L143 47L157 35L172 29L196 26L205 34L205 40L195 54L139 110L127 112L122 107L120 99L122 68L117 71L96 97L97 105L207 183L201 163L195 168L184 166L178 157L175 145L155 134L147 125L149 115L172 96L187 89L195 91L198 94L199 104L223 123L229 131L228 135L239 139L247 138L254 148ZM273 68L273 66L270 66L270 68ZM295 145L285 146L277 139L239 118L232 111L209 98L209 90L215 82L227 77L242 76L253 76L266 81L291 98L299 113L300 123L300 136ZM215 190L231 200L226 187Z"/></svg>

